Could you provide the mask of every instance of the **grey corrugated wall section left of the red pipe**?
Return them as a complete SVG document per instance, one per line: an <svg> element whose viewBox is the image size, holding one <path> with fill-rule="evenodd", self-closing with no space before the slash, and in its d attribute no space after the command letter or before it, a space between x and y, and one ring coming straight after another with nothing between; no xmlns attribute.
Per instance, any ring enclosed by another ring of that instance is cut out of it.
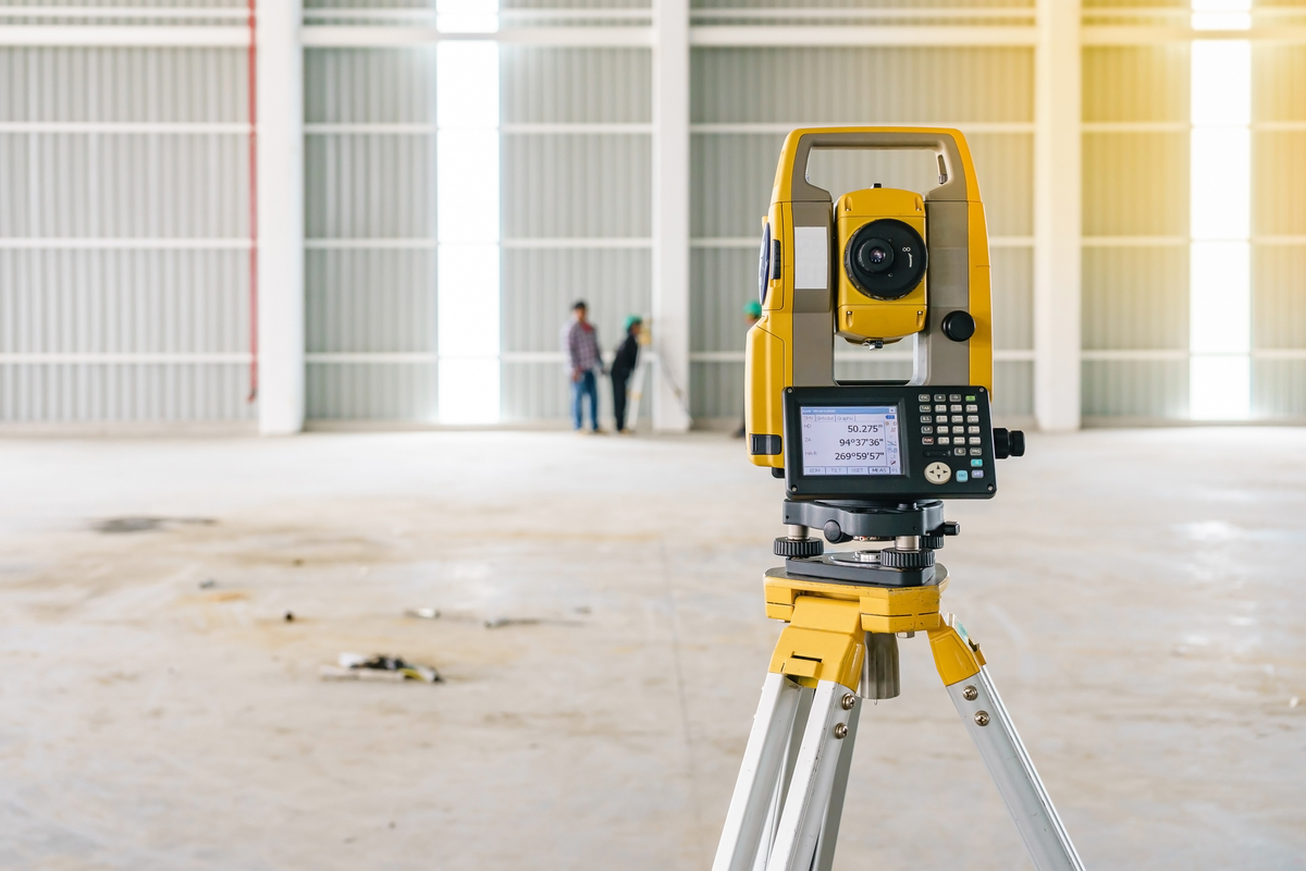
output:
<svg viewBox="0 0 1306 871"><path fill-rule="evenodd" d="M242 50L0 48L0 422L253 417L247 93Z"/></svg>

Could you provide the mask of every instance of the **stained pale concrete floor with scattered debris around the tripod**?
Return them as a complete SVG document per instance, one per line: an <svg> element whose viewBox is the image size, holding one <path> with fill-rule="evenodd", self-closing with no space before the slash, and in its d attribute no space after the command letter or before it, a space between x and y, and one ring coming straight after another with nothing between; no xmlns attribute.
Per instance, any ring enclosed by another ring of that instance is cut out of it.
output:
<svg viewBox="0 0 1306 871"><path fill-rule="evenodd" d="M1306 867L1306 431L1032 436L999 478L946 607L1088 867ZM0 441L0 867L707 868L780 498L721 436ZM176 520L95 530L136 516ZM320 680L343 650L445 682ZM837 867L1029 867L902 658Z"/></svg>

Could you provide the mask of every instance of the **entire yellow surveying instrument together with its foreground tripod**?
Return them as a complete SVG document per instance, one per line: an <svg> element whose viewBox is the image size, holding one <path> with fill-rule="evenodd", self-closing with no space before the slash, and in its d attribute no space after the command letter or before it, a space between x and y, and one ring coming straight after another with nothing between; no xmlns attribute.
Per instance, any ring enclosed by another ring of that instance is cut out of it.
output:
<svg viewBox="0 0 1306 871"><path fill-rule="evenodd" d="M923 197L874 188L837 202L807 180L812 149L932 153ZM994 461L1024 435L993 428L989 238L959 131L811 128L785 140L763 226L763 316L748 330L750 458L785 479L767 572L780 635L730 799L714 871L829 871L861 700L899 695L897 639L934 662L1038 871L1081 871L998 696L980 645L939 609L935 562L960 526L944 499L991 499ZM908 381L837 381L835 338L910 340ZM825 541L857 542L824 550ZM871 547L871 545L878 545Z"/></svg>

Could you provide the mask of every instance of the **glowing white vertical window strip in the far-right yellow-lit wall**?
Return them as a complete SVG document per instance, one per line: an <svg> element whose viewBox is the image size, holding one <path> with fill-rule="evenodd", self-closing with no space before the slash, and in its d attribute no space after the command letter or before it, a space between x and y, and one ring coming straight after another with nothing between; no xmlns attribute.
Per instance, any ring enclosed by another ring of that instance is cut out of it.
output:
<svg viewBox="0 0 1306 871"><path fill-rule="evenodd" d="M1199 14L1249 14L1243 0L1194 0ZM1228 27L1232 25L1220 25ZM1251 44L1192 43L1188 413L1251 410Z"/></svg>

